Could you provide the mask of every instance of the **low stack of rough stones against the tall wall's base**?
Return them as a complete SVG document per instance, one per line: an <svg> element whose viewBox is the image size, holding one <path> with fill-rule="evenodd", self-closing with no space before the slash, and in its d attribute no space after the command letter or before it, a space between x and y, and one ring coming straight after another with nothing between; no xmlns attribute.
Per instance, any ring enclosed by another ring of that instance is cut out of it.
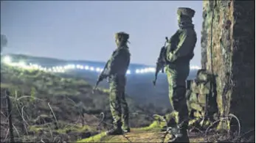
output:
<svg viewBox="0 0 256 143"><path fill-rule="evenodd" d="M215 76L207 70L198 70L196 79L187 80L187 107L190 115L190 124L197 121L202 126L202 120L215 120L218 114L217 91Z"/></svg>

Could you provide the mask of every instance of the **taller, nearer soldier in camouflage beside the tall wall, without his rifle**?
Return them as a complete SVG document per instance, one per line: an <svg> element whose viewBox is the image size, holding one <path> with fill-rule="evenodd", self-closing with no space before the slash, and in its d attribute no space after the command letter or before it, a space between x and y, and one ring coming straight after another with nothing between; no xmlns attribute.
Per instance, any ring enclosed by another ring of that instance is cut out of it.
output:
<svg viewBox="0 0 256 143"><path fill-rule="evenodd" d="M176 112L175 120L169 120L168 126L181 128L181 137L175 142L189 142L187 136L188 111L186 103L186 79L190 73L190 59L196 45L196 32L192 23L195 11L190 8L178 9L179 29L168 41L166 57L166 73L169 83L169 98Z"/></svg>

